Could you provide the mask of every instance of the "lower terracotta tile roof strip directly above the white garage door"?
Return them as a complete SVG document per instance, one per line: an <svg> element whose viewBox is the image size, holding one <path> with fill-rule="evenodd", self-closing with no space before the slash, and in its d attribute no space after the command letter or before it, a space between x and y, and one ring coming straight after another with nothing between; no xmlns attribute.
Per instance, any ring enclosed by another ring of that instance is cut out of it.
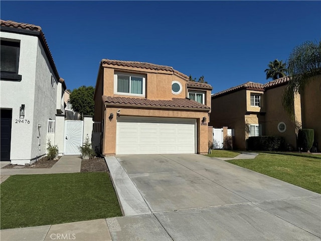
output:
<svg viewBox="0 0 321 241"><path fill-rule="evenodd" d="M201 109L209 111L210 107L204 104L198 103L194 100L187 98L173 98L172 100L150 100L146 98L130 98L130 97L111 97L102 96L102 100L109 104L119 105L132 105L137 107L162 107L162 108L185 108L185 109Z"/></svg>

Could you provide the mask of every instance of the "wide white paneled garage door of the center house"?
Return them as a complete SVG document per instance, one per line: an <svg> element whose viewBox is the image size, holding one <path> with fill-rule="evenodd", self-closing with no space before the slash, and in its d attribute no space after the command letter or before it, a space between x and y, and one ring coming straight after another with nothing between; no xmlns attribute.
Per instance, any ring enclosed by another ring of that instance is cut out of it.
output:
<svg viewBox="0 0 321 241"><path fill-rule="evenodd" d="M195 119L117 118L116 155L196 153Z"/></svg>

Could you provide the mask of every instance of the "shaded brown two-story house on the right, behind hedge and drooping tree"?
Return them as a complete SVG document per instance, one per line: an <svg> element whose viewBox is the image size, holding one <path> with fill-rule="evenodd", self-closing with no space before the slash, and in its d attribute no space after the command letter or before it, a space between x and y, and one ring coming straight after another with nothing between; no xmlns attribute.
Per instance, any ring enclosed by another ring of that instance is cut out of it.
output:
<svg viewBox="0 0 321 241"><path fill-rule="evenodd" d="M296 149L296 126L282 106L282 93L288 77L266 84L247 82L212 95L209 125L234 129L233 146L246 149L250 136L281 136L288 149ZM320 78L297 94L294 113L302 128L314 129L314 142L321 141ZM319 149L319 147L318 147Z"/></svg>

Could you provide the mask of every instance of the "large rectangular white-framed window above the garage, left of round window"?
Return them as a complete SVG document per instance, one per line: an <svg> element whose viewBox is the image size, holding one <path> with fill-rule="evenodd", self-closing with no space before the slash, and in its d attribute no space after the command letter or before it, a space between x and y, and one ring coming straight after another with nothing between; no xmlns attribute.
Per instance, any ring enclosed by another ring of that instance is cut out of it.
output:
<svg viewBox="0 0 321 241"><path fill-rule="evenodd" d="M143 75L116 73L114 75L115 94L145 96Z"/></svg>

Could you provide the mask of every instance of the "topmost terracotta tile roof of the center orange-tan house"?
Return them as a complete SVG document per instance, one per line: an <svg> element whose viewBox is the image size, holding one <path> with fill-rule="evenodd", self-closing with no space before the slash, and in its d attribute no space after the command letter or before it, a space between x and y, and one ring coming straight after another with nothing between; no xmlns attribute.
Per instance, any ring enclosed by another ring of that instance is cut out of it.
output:
<svg viewBox="0 0 321 241"><path fill-rule="evenodd" d="M174 72L174 73L176 73L186 79L188 78L187 75L175 70L171 66L166 66L166 65L158 65L158 64L138 62L138 61L111 60L111 59L102 59L101 64L132 67L132 68L141 68L141 69L171 71L171 72Z"/></svg>

